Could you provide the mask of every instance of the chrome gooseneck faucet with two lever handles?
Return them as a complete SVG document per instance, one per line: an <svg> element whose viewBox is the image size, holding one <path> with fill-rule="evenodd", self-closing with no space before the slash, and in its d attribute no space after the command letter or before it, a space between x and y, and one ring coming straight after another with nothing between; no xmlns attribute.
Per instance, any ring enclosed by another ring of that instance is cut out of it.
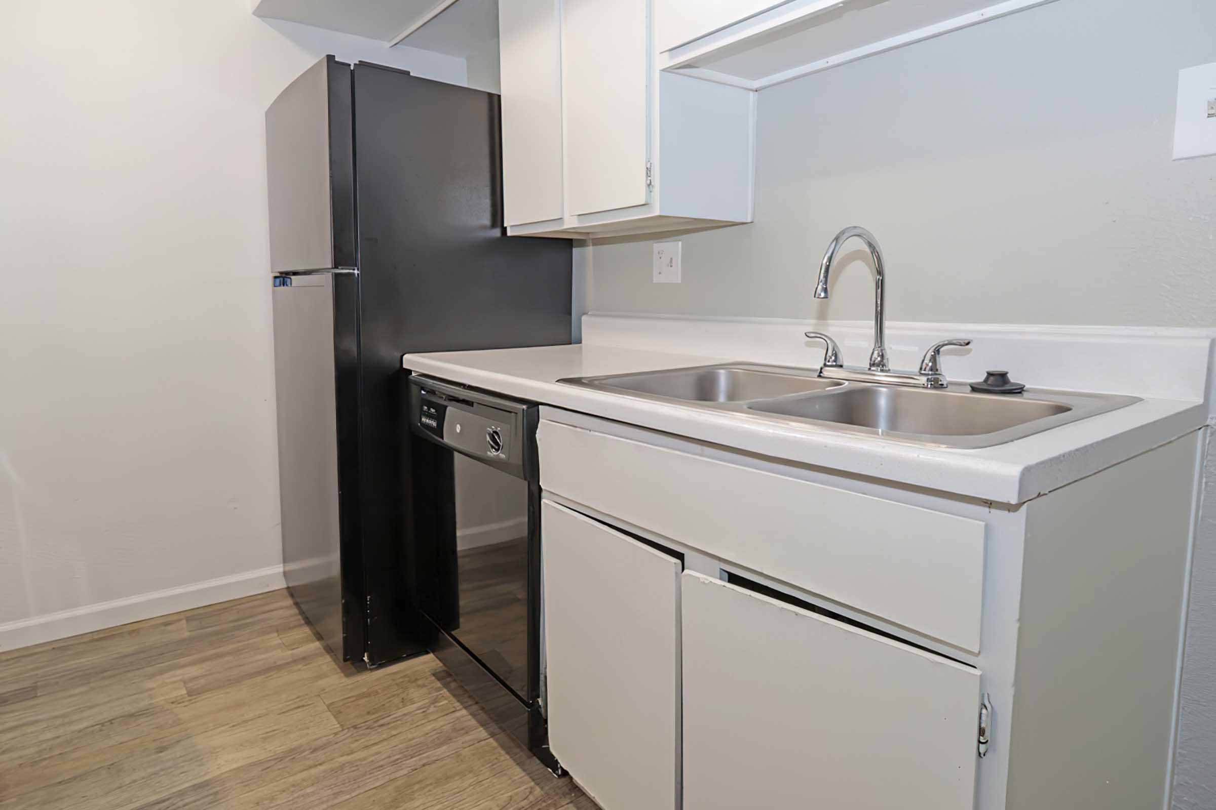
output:
<svg viewBox="0 0 1216 810"><path fill-rule="evenodd" d="M893 372L886 357L886 300L883 295L883 282L885 281L886 267L883 264L883 251L878 247L878 239L866 228L851 226L835 234L828 244L823 261L820 262L820 278L815 283L815 298L826 299L828 296L828 278L832 273L832 262L835 261L837 251L848 239L857 237L874 261L874 347L869 352L869 368L846 367L840 358L840 346L837 341L822 332L807 332L806 336L822 340L827 347L823 353L823 363L820 367L820 376L834 380L852 380L856 383L879 383L885 385L917 385L928 389L950 387L950 381L941 370L941 350L946 346L970 346L967 338L941 340L929 347L921 359L921 368L917 372Z"/></svg>

